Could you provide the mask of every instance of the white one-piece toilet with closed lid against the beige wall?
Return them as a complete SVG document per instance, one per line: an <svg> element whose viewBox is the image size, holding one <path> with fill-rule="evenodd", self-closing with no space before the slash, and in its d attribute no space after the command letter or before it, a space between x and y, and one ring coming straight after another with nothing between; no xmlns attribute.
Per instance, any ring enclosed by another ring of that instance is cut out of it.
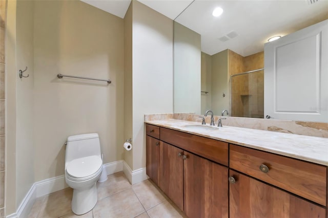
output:
<svg viewBox="0 0 328 218"><path fill-rule="evenodd" d="M73 188L72 211L84 214L98 200L97 180L103 169L99 136L96 133L70 136L65 154L65 180Z"/></svg>

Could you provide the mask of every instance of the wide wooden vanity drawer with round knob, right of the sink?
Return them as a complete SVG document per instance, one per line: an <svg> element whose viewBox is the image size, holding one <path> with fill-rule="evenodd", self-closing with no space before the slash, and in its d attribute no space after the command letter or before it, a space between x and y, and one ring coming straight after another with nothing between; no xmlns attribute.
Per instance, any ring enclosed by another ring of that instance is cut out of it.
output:
<svg viewBox="0 0 328 218"><path fill-rule="evenodd" d="M265 171L265 166L268 172ZM326 205L325 166L230 144L230 168Z"/></svg>

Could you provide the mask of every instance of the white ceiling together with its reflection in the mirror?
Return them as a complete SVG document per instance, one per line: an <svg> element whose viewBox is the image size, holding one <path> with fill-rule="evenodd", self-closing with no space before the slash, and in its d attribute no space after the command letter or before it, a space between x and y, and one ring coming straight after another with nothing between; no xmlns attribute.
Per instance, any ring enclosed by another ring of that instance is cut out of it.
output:
<svg viewBox="0 0 328 218"><path fill-rule="evenodd" d="M131 0L81 0L124 18ZM274 35L286 35L328 19L328 0L138 0L142 4L201 34L201 50L213 55L230 49L242 56L263 51ZM192 4L191 4L192 3ZM213 17L215 7L223 14ZM235 32L227 41L219 38Z"/></svg>

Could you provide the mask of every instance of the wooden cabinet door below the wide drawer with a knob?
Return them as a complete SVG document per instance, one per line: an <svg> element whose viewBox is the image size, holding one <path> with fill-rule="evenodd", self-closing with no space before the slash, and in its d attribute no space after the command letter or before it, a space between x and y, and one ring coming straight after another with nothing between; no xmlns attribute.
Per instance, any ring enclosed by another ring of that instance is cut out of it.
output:
<svg viewBox="0 0 328 218"><path fill-rule="evenodd" d="M273 186L229 171L230 217L325 217L325 209Z"/></svg>

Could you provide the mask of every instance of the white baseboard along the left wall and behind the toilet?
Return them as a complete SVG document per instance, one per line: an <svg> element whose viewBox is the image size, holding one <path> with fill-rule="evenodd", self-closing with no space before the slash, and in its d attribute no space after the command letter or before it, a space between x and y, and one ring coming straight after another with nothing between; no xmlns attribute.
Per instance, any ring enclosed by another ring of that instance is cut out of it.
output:
<svg viewBox="0 0 328 218"><path fill-rule="evenodd" d="M125 161L120 160L104 164L106 166L107 175L122 171L124 162ZM67 187L68 185L65 182L65 175L35 182L25 195L25 198L23 199L22 203L20 203L20 205L18 206L17 211L6 216L6 218L28 217L28 214L30 213L36 198L42 197L46 194L50 194L55 191L59 191Z"/></svg>

